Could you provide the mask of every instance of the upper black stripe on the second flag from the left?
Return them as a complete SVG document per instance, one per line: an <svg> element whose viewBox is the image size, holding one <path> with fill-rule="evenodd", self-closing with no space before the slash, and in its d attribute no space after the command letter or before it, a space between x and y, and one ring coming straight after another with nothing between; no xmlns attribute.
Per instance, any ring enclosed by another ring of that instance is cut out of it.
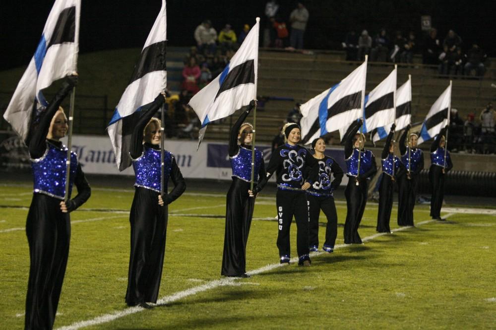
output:
<svg viewBox="0 0 496 330"><path fill-rule="evenodd" d="M167 41L159 41L143 49L139 61L134 66L129 84L147 73L166 70Z"/></svg>

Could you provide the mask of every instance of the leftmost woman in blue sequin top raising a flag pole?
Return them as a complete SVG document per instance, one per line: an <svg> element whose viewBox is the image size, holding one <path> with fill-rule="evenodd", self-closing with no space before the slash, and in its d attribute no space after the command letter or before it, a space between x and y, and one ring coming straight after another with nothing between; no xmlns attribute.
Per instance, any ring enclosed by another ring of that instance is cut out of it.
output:
<svg viewBox="0 0 496 330"><path fill-rule="evenodd" d="M29 142L34 192L26 221L30 267L25 330L49 330L54 325L69 254L69 212L91 195L74 152L70 154L69 182L65 182L68 150L60 139L68 127L60 105L76 84L76 74L65 78ZM64 201L66 184L68 198L73 184L78 194Z"/></svg>

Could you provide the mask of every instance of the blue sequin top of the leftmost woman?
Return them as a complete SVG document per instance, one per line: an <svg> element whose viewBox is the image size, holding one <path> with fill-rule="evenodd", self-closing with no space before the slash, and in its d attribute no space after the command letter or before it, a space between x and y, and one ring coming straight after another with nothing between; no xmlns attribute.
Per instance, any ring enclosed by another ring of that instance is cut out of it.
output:
<svg viewBox="0 0 496 330"><path fill-rule="evenodd" d="M54 198L63 199L65 195L65 170L67 147L62 148L47 141L45 154L38 159L31 159L33 170L34 192ZM69 198L77 171L77 155L70 153Z"/></svg>

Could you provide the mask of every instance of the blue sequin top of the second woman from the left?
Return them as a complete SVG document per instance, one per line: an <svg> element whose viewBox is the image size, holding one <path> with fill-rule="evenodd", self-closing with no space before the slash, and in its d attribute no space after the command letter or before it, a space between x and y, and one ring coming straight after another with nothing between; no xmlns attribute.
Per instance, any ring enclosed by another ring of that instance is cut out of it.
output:
<svg viewBox="0 0 496 330"><path fill-rule="evenodd" d="M167 190L173 157L169 151L164 150L164 191ZM160 150L143 145L141 156L132 160L132 168L134 169L135 187L160 193Z"/></svg>

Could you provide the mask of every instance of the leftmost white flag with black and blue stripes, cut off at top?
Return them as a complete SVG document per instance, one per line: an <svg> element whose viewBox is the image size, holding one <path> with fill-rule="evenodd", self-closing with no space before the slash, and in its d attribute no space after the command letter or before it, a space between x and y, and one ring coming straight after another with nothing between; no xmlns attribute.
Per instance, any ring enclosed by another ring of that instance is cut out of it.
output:
<svg viewBox="0 0 496 330"><path fill-rule="evenodd" d="M56 0L35 54L14 91L3 118L27 142L31 125L48 105L42 90L77 71L81 0Z"/></svg>

